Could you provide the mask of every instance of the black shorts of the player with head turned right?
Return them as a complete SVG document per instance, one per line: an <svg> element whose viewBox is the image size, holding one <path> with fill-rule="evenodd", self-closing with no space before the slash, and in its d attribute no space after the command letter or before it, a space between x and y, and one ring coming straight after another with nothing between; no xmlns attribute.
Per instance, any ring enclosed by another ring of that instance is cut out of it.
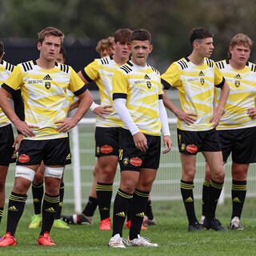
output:
<svg viewBox="0 0 256 256"><path fill-rule="evenodd" d="M178 150L183 154L197 154L202 151L218 152L222 150L222 144L215 129L212 130L179 130Z"/></svg>

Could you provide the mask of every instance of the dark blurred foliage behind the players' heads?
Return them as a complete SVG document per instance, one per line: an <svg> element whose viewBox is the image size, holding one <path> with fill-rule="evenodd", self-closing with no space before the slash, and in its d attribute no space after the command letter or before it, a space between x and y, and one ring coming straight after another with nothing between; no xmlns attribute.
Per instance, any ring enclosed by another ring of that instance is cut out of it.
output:
<svg viewBox="0 0 256 256"><path fill-rule="evenodd" d="M194 26L214 33L215 60L226 58L234 34L255 39L254 0L0 0L0 10L0 38L12 40L37 39L39 30L55 26L66 42L88 45L118 28L146 28L154 45L150 63L161 71L190 53Z"/></svg>

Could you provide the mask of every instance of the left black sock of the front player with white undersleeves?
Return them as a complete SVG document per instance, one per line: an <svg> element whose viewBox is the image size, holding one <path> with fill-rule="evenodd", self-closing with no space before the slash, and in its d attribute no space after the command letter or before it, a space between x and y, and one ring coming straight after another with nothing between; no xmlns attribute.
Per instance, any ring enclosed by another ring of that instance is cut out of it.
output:
<svg viewBox="0 0 256 256"><path fill-rule="evenodd" d="M113 210L113 233L120 234L122 237L122 226L126 220L126 215L129 209L130 199L133 197L132 194L128 194L122 191L120 188L114 198L114 210Z"/></svg>

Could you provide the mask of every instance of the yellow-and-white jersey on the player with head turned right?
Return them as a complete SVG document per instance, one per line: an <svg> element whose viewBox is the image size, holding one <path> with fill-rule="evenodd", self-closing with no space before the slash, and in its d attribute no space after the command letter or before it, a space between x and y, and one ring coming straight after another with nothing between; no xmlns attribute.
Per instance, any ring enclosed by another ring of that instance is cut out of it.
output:
<svg viewBox="0 0 256 256"><path fill-rule="evenodd" d="M225 82L213 60L205 58L201 66L196 66L189 58L182 58L172 63L161 78L164 89L177 87L182 110L197 114L196 122L190 126L178 119L178 129L213 129L210 118L213 116L214 86L221 87Z"/></svg>

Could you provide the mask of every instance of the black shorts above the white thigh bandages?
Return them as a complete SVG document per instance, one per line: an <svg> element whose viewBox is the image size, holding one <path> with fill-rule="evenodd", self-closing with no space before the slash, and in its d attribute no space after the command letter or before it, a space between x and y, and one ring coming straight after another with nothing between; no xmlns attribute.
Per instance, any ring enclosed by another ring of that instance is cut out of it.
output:
<svg viewBox="0 0 256 256"><path fill-rule="evenodd" d="M71 163L69 138L22 140L18 150L18 166L65 166Z"/></svg>

